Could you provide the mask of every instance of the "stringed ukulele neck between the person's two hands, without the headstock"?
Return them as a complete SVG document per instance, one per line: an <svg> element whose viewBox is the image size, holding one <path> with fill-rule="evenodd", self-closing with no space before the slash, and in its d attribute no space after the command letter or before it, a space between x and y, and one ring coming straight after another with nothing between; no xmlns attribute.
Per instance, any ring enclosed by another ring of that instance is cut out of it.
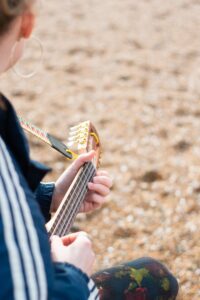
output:
<svg viewBox="0 0 200 300"><path fill-rule="evenodd" d="M79 170L54 215L53 222L49 228L49 236L63 236L69 232L87 193L87 184L92 180L95 173L96 169L92 162L85 163Z"/></svg>

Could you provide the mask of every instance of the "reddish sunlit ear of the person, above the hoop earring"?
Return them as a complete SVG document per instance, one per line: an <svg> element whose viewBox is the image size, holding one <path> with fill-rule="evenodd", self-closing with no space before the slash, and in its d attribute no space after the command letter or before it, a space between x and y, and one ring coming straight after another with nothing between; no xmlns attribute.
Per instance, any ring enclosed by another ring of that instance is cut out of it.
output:
<svg viewBox="0 0 200 300"><path fill-rule="evenodd" d="M31 12L25 12L21 18L21 37L28 39L35 25L35 16Z"/></svg>

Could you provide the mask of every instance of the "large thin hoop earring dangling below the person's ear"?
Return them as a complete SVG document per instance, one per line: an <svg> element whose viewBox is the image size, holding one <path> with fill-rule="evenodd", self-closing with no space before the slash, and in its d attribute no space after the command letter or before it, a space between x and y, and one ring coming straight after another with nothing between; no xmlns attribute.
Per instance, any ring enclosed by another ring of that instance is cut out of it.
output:
<svg viewBox="0 0 200 300"><path fill-rule="evenodd" d="M22 78L31 78L31 77L35 76L38 73L38 70L41 67L41 63L42 63L42 60L43 60L43 46L42 46L42 43L41 43L40 39L36 38L35 36L32 36L30 38L30 40L35 41L37 43L37 45L39 45L39 51L40 51L39 63L32 72L23 73L23 71L20 71L20 69L17 67L17 64L15 64L15 62L14 62L14 57L15 57L17 45L18 45L19 42L16 42L14 44L12 50L11 50L11 59L10 59L10 61L11 61L12 70L14 71L15 74L17 74L19 77L22 77Z"/></svg>

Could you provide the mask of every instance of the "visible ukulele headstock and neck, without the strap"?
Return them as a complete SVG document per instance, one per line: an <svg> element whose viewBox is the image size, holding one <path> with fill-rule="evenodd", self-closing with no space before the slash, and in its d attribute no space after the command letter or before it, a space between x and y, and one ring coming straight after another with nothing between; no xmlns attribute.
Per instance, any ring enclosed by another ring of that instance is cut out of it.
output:
<svg viewBox="0 0 200 300"><path fill-rule="evenodd" d="M87 184L92 181L100 161L100 141L98 133L90 121L83 122L70 128L70 137L67 143L72 153L81 154L95 150L96 155L92 162L85 163L75 176L71 186L64 196L58 210L47 224L49 236L66 235L87 193Z"/></svg>

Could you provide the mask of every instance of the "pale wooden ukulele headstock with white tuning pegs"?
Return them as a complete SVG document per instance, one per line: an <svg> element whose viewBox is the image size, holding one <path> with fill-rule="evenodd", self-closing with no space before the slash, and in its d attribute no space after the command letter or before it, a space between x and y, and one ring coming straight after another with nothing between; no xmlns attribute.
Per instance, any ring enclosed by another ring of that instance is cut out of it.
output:
<svg viewBox="0 0 200 300"><path fill-rule="evenodd" d="M73 158L78 155L95 150L94 165L98 168L100 163L101 144L99 135L90 121L85 121L71 127L67 146L70 148Z"/></svg>

